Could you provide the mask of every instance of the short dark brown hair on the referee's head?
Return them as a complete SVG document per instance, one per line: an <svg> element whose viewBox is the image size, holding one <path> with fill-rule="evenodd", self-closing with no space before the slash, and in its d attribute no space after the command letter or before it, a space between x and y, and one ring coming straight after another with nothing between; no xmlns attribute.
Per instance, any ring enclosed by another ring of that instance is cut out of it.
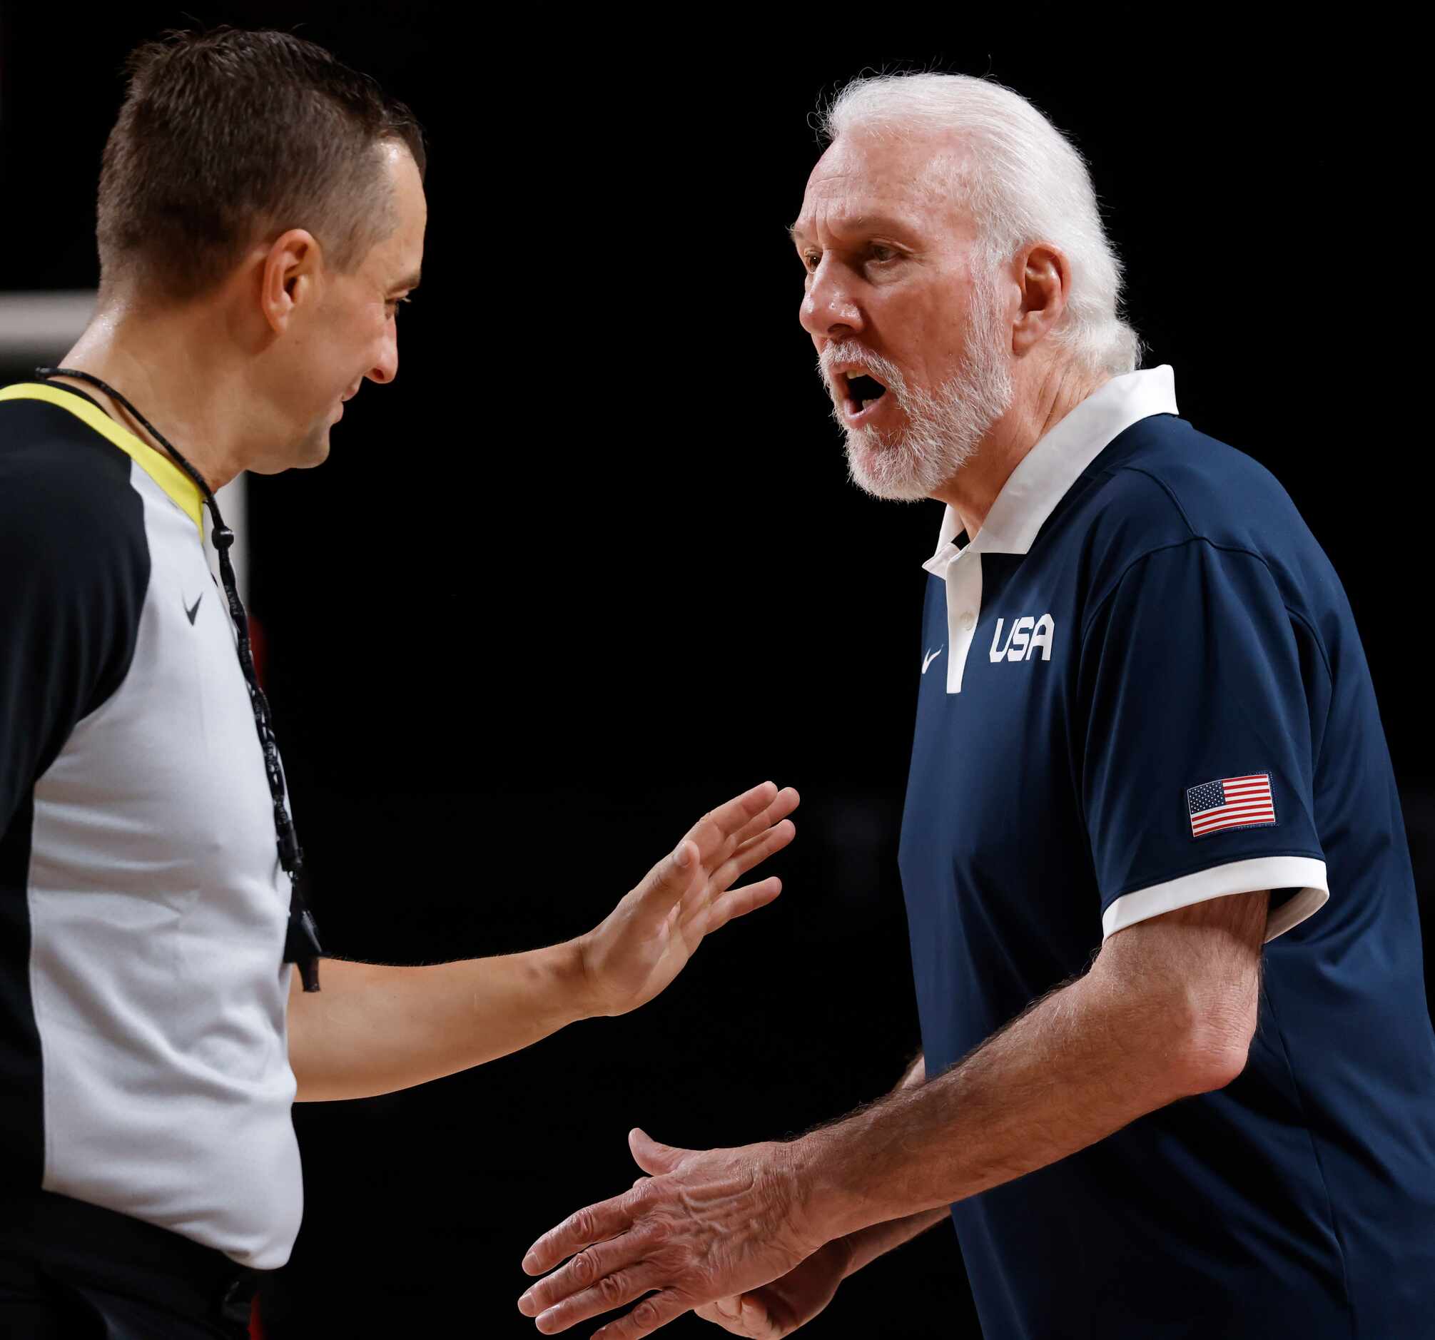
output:
<svg viewBox="0 0 1435 1340"><path fill-rule="evenodd" d="M307 228L352 270L396 217L380 145L423 131L367 75L291 33L169 32L126 62L99 179L100 287L198 297L257 235Z"/></svg>

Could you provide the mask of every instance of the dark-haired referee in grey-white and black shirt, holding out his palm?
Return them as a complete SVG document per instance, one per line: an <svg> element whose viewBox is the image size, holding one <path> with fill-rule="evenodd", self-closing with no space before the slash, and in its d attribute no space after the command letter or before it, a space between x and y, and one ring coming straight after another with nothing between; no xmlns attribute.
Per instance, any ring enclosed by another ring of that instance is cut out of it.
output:
<svg viewBox="0 0 1435 1340"><path fill-rule="evenodd" d="M778 894L733 885L796 806L763 783L715 809L554 948L320 963L214 489L320 463L393 380L423 141L281 33L172 34L129 75L95 320L0 390L0 1336L245 1334L298 1231L296 1096L644 1003Z"/></svg>

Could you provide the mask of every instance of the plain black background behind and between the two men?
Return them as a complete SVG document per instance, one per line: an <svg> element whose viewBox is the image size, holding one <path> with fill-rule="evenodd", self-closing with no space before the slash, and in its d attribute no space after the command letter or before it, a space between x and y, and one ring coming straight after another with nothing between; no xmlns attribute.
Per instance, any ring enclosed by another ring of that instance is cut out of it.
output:
<svg viewBox="0 0 1435 1340"><path fill-rule="evenodd" d="M119 66L164 27L297 27L429 131L402 374L364 387L321 471L250 492L330 951L567 938L715 802L769 776L804 795L779 902L639 1014L296 1109L307 1212L267 1294L276 1340L532 1334L522 1251L629 1185L631 1125L686 1146L782 1136L884 1092L917 1047L895 838L940 508L845 482L784 235L818 152L808 113L864 67L992 73L1091 159L1147 366L1172 363L1182 415L1277 473L1345 580L1428 914L1428 377L1401 367L1421 287L1389 40L1372 60L1349 29L1203 33L1121 7L1086 42L1045 20L845 40L814 16L779 42L710 19L0 6L0 290L96 281ZM951 1337L970 1317L938 1227L806 1334Z"/></svg>

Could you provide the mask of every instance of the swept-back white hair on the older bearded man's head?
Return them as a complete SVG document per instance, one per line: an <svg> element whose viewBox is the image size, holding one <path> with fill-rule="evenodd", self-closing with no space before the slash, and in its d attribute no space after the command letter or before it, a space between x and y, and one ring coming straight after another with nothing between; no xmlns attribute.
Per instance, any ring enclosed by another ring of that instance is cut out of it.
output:
<svg viewBox="0 0 1435 1340"><path fill-rule="evenodd" d="M984 278L1030 242L1059 248L1071 296L1050 337L1088 372L1121 376L1139 366L1141 339L1121 313L1121 261L1086 162L1020 93L970 75L872 75L848 83L819 116L827 141L854 131L959 132L971 152L953 188L977 224Z"/></svg>

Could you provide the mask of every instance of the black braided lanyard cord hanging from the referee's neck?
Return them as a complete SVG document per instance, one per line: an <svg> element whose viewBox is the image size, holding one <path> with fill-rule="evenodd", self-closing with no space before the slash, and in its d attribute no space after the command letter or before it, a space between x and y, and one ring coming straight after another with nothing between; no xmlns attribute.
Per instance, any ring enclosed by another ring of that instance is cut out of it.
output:
<svg viewBox="0 0 1435 1340"><path fill-rule="evenodd" d="M304 867L304 852L298 845L298 834L294 831L294 821L290 818L286 803L284 769L278 759L278 743L274 737L274 719L270 714L268 699L260 687L258 674L254 670L254 648L250 644L250 621L244 613L244 603L240 600L240 590L234 580L234 564L230 560L230 547L234 544L234 531L220 515L220 504L215 502L214 489L178 449L159 432L133 405L129 403L113 386L100 382L99 377L77 367L37 367L36 377L49 382L52 377L76 377L98 386L106 396L133 415L136 423L142 423L149 435L161 445L175 463L194 481L199 489L210 516L214 522L210 538L214 541L214 551L220 555L220 580L224 584L224 598L230 607L230 618L234 621L237 647L240 653L240 670L244 673L244 684L250 690L250 707L254 712L254 729L260 737L260 749L264 753L264 772L268 778L270 798L274 802L274 832L278 846L280 865L290 879L288 905L288 934L284 940L284 961L298 964L298 974L304 981L306 991L319 990L319 928L314 917L309 911L309 904L298 887L298 875Z"/></svg>

